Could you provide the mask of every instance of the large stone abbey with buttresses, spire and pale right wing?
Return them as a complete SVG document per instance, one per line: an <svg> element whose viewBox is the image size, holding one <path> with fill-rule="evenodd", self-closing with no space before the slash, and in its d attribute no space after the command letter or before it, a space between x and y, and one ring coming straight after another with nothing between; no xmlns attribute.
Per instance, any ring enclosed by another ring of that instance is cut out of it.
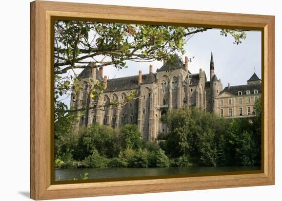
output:
<svg viewBox="0 0 282 201"><path fill-rule="evenodd" d="M117 107L89 109L85 115L77 117L79 126L99 123L114 128L124 124L137 124L145 141L156 139L158 133L168 133L167 126L159 118L173 108L184 105L198 107L222 117L252 117L255 100L261 95L261 80L254 74L246 85L230 86L223 89L220 79L215 75L213 55L210 60L210 79L201 68L197 74L188 69L188 58L183 62L174 56L164 61L162 67L153 73L152 65L149 74L139 71L137 76L107 79L103 77L103 68L86 68L78 77L82 78L83 90L72 94L71 104L88 107L94 104L103 105L112 100L123 103L126 95L137 92L138 98ZM103 96L94 103L90 98L88 83L90 79L104 82Z"/></svg>

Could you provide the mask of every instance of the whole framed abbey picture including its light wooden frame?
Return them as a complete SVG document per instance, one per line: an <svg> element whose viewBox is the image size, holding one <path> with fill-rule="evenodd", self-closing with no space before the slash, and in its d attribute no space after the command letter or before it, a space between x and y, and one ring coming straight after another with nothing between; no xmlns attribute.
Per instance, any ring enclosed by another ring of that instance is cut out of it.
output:
<svg viewBox="0 0 282 201"><path fill-rule="evenodd" d="M274 16L30 6L31 198L274 185Z"/></svg>

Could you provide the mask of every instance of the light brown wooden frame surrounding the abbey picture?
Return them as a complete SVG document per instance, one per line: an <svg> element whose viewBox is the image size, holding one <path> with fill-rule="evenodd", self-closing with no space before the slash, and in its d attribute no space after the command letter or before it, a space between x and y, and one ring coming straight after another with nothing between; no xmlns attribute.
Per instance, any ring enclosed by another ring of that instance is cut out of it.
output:
<svg viewBox="0 0 282 201"><path fill-rule="evenodd" d="M261 30L263 74L262 171L259 173L52 184L51 18L245 27ZM54 199L274 185L274 16L94 4L30 3L30 197Z"/></svg>

